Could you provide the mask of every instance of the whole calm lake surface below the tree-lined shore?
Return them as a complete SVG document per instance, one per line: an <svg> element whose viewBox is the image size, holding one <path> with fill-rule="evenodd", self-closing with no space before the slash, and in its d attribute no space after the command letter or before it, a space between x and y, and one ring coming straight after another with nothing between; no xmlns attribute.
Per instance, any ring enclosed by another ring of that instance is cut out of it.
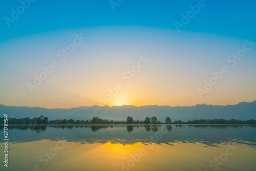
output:
<svg viewBox="0 0 256 171"><path fill-rule="evenodd" d="M0 169L256 170L255 135L256 125L9 125Z"/></svg>

